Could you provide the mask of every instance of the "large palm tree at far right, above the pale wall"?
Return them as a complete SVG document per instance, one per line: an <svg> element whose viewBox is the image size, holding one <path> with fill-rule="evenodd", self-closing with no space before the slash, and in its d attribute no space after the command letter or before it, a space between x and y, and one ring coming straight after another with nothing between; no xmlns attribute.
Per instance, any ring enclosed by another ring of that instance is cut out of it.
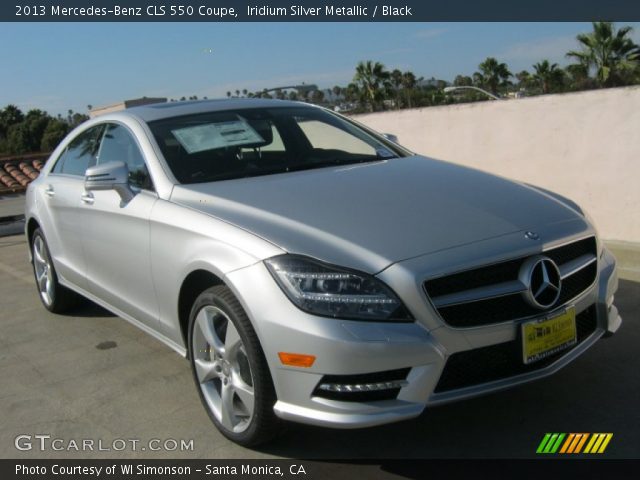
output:
<svg viewBox="0 0 640 480"><path fill-rule="evenodd" d="M599 87L630 83L640 65L640 49L629 38L631 30L622 27L616 31L612 22L593 22L593 32L576 37L581 50L573 50L567 57L593 71Z"/></svg>

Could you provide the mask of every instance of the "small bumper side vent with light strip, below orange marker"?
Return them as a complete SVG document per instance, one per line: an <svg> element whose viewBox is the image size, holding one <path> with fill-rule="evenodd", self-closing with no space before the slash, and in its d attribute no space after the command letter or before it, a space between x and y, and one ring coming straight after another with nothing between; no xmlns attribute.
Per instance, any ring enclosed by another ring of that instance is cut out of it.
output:
<svg viewBox="0 0 640 480"><path fill-rule="evenodd" d="M372 402L379 400L394 400L400 393L400 387L387 388L373 391L331 391L323 390L321 385L374 385L386 382L404 381L411 368L400 368L397 370L387 370L385 372L364 373L360 375L325 375L313 391L314 397L327 398L329 400L340 400L343 402Z"/></svg>

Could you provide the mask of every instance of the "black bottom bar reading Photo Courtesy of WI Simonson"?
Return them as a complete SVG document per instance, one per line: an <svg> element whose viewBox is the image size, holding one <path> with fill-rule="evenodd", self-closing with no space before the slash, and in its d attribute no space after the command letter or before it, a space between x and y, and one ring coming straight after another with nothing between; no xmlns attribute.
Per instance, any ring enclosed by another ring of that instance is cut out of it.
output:
<svg viewBox="0 0 640 480"><path fill-rule="evenodd" d="M405 459L381 460L0 460L3 479L352 479L427 478L540 480L635 479L638 460Z"/></svg>

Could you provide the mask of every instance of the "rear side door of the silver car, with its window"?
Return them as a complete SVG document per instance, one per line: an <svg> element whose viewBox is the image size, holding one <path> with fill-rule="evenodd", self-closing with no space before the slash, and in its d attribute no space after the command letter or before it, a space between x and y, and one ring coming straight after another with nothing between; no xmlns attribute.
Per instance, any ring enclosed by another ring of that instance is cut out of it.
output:
<svg viewBox="0 0 640 480"><path fill-rule="evenodd" d="M43 215L44 234L58 275L85 289L86 258L82 246L84 173L96 160L104 125L91 127L73 139L60 154L38 198L47 215Z"/></svg>

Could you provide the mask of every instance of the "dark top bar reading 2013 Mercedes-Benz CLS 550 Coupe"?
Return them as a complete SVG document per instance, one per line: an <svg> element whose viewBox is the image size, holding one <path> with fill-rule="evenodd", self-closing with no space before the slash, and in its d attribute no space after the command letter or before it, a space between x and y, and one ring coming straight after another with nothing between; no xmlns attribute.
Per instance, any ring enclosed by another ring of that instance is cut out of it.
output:
<svg viewBox="0 0 640 480"><path fill-rule="evenodd" d="M639 21L638 0L15 0L3 22Z"/></svg>

